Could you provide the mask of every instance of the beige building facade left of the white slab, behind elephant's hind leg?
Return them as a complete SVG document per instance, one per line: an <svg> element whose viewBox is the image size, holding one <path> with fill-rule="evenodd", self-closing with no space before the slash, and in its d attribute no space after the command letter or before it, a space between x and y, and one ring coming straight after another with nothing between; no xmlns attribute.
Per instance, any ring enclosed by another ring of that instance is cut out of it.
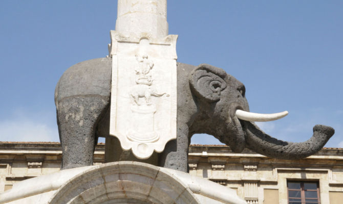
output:
<svg viewBox="0 0 343 204"><path fill-rule="evenodd" d="M0 192L13 184L60 170L62 150L58 142L0 142ZM99 143L94 163L103 163L104 144Z"/></svg>

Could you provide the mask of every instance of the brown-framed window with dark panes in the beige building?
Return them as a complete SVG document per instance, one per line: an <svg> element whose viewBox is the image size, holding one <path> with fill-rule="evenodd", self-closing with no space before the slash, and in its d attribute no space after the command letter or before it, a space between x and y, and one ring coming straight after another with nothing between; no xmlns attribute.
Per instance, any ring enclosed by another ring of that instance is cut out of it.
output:
<svg viewBox="0 0 343 204"><path fill-rule="evenodd" d="M319 204L318 182L288 181L289 204Z"/></svg>

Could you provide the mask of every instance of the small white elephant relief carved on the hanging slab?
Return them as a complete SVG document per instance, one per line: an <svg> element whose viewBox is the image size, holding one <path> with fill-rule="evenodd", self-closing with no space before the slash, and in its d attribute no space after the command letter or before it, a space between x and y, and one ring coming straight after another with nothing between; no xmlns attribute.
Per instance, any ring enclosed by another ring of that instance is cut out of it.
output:
<svg viewBox="0 0 343 204"><path fill-rule="evenodd" d="M151 105L151 96L161 97L166 93L156 93L156 88L154 86L149 86L146 84L136 84L130 90L130 96L132 97L133 101L140 106L139 98L144 97L146 105ZM167 95L169 96L169 95Z"/></svg>

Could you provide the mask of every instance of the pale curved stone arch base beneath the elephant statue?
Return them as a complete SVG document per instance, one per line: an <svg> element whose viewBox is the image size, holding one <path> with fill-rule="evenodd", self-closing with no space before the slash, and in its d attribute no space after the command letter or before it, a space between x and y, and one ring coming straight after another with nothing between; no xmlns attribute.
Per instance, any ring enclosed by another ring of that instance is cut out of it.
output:
<svg viewBox="0 0 343 204"><path fill-rule="evenodd" d="M245 200L215 182L140 162L61 170L19 182L0 203L235 203Z"/></svg>

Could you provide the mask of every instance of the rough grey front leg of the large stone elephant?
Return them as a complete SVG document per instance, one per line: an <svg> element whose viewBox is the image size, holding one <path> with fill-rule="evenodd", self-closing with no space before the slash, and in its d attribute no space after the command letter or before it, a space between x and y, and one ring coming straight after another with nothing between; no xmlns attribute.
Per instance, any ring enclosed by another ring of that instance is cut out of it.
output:
<svg viewBox="0 0 343 204"><path fill-rule="evenodd" d="M177 125L176 140L169 141L159 157L159 166L188 172L188 126Z"/></svg>

